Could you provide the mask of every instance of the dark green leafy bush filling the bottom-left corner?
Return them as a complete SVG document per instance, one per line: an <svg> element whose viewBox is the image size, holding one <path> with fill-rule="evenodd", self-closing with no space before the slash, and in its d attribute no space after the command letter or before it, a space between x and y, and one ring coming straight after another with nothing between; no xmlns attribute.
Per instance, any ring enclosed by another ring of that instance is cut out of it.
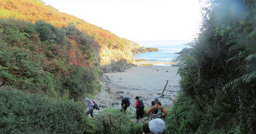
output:
<svg viewBox="0 0 256 134"><path fill-rule="evenodd" d="M80 104L0 89L0 133L83 133L93 124Z"/></svg>

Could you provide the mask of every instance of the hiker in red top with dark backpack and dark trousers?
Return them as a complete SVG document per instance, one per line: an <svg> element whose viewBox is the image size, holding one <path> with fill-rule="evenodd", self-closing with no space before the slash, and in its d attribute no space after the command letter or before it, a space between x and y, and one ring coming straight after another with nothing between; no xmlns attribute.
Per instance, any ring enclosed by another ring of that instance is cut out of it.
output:
<svg viewBox="0 0 256 134"><path fill-rule="evenodd" d="M139 119L141 117L141 120L142 120L142 124L144 124L144 118L143 118L143 115L144 115L144 102L142 100L140 100L139 96L136 96L136 102L135 102L135 105L133 107L136 108L136 118L137 118L137 122L136 123L139 123Z"/></svg>

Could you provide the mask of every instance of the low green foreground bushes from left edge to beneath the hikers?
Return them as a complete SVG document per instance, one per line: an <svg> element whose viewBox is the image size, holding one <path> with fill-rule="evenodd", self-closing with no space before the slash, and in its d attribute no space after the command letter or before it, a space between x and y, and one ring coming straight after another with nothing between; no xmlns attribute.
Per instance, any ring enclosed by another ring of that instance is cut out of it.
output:
<svg viewBox="0 0 256 134"><path fill-rule="evenodd" d="M142 133L119 109L88 120L83 105L37 94L0 89L0 133Z"/></svg>

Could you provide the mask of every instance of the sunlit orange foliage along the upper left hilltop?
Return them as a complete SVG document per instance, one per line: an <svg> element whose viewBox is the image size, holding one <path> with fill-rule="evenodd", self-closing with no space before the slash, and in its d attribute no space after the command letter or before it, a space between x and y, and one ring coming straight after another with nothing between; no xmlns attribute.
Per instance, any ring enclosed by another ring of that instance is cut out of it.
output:
<svg viewBox="0 0 256 134"><path fill-rule="evenodd" d="M72 2L72 1L71 1ZM106 31L100 27L85 22L82 19L76 18L66 13L58 12L46 6L40 1L33 0L1 0L0 2L0 17L1 18L16 18L31 21L44 20L56 27L75 25L80 31L86 32L101 46L109 48L123 48L124 42L115 34ZM93 46L98 48L98 46ZM125 47L125 46L124 46Z"/></svg>

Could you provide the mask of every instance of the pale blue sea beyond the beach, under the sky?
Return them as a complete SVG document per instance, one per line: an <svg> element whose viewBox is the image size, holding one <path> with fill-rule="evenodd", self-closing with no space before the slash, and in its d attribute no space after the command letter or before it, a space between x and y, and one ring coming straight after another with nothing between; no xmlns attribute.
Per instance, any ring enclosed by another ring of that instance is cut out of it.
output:
<svg viewBox="0 0 256 134"><path fill-rule="evenodd" d="M149 51L147 53L134 54L133 59L146 59L147 61L171 62L175 59L183 48L189 47L185 44L191 42L190 40L183 41L151 41L151 42L137 42L140 46L158 48L158 51Z"/></svg>

